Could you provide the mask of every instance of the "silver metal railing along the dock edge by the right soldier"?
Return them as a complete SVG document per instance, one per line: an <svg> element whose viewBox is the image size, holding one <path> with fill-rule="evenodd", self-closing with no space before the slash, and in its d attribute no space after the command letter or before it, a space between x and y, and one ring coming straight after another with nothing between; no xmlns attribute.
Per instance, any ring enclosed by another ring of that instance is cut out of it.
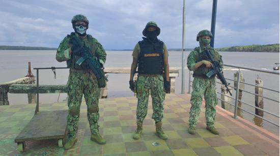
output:
<svg viewBox="0 0 280 156"><path fill-rule="evenodd" d="M257 107L257 106L254 106L254 104L252 105L252 104L249 104L249 103L247 103L247 102L244 102L244 101L238 99L238 97L239 97L239 85L240 85L240 83L246 84L246 85L249 85L249 86L255 86L255 87L262 88L262 89L265 89L265 90L268 90L268 91L272 91L272 92L279 93L279 91L273 90L273 89L270 89L270 88L259 87L259 86L253 85L253 84L248 84L248 83L240 82L240 73L241 73L241 72L240 72L240 69L247 69L247 70L251 70L251 71L258 71L258 72L264 72L264 73L270 73L270 74L277 74L277 75L279 75L279 71L264 70L264 69L251 68L251 67L245 67L245 66L237 66L237 65L232 65L232 64L223 64L223 66L234 67L234 68L237 68L237 69L238 69L238 71L237 71L237 80L232 80L232 79L226 78L227 80L230 80L230 81L233 81L233 82L237 82L237 83L236 83L236 87L230 86L231 88L234 88L234 89L235 89L235 98L230 97L230 96L228 96L228 95L226 95L226 94L222 94L222 93L220 93L220 92L217 92L217 93L220 94L220 95L229 97L229 98L231 98L231 99L234 100L234 104L232 104L232 103L230 103L230 102L227 102L227 101L225 101L225 100L222 100L222 99L220 99L220 98L217 98L217 99L220 100L220 101L223 101L223 102L225 102L225 103L227 103L227 104L229 104L229 105L234 106L234 115L233 115L233 118L237 118L237 109L239 108L240 110L243 110L243 111L245 111L245 112L247 112L247 113L249 113L249 114L252 114L252 115L254 115L254 116L257 116L258 118L260 118L260 119L262 119L262 120L264 120L264 121L267 121L267 122L269 122L269 123L271 123L271 124L273 124L273 125L279 127L279 124L278 124L278 123L274 123L274 122L272 122L272 121L270 121L270 120L268 120L268 119L263 118L263 117L260 116L260 115L257 115L257 114L255 114L255 113L253 113L253 112L250 112L250 111L248 111L248 110L246 110L246 109L241 108L241 107L238 106L238 103L241 102L241 103L243 103L243 104L245 104L245 105L248 105L248 106L250 106L250 107L254 107L255 109L259 109L259 110L262 110L262 111L264 111L264 112L266 112L266 113L268 113L268 114L271 114L271 115L273 115L273 116L276 116L276 117L279 119L279 115L277 115L277 114L275 114L275 113L273 113L273 112L270 112L270 111L268 111L268 110L259 108L259 107ZM191 71L189 71L188 93L190 93L190 89L191 89L190 87L192 86L192 85L191 85L191 83L192 83L192 81L191 81L191 77L192 77L192 76L191 76L191 75L192 75L192 73L191 73ZM217 84L221 84L221 83L218 82L218 81L216 81L216 83L217 83ZM246 93L248 93L248 94L251 94L251 95L259 96L259 97L262 97L262 98L265 98L265 99L268 99L268 100L271 100L271 101L274 101L274 102L278 102L278 103L279 103L278 100L271 99L271 98L265 97L265 96L263 96L263 95L259 95L259 94L256 94L256 93L251 93L251 92L245 91L245 90L242 90L242 91L244 91L244 92L246 92Z"/></svg>

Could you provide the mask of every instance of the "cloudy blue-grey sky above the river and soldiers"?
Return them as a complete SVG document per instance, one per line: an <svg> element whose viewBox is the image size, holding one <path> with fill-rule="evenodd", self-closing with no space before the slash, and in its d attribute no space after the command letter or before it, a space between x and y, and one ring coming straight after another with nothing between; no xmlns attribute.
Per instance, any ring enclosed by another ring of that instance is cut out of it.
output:
<svg viewBox="0 0 280 156"><path fill-rule="evenodd" d="M186 0L185 48L211 29L212 0ZM0 0L0 45L57 48L73 31L71 19L89 19L88 34L106 50L133 49L148 21L161 29L167 48L182 48L183 0ZM215 48L279 44L278 0L217 2Z"/></svg>

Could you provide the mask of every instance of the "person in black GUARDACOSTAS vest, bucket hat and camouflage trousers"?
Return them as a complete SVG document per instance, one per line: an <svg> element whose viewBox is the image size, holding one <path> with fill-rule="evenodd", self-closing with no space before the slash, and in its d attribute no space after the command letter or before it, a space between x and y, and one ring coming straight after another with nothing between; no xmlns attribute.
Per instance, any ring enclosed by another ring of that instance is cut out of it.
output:
<svg viewBox="0 0 280 156"><path fill-rule="evenodd" d="M129 88L137 94L136 110L137 129L133 135L139 139L142 134L142 123L147 115L148 99L151 91L153 116L156 124L156 135L167 139L162 131L163 101L165 92L170 93L168 51L165 44L157 39L160 28L155 22L148 22L143 30L143 41L139 41L132 53L133 62L130 71ZM138 77L134 84L133 76L138 66ZM163 79L165 77L165 80ZM165 91L165 92L164 92Z"/></svg>

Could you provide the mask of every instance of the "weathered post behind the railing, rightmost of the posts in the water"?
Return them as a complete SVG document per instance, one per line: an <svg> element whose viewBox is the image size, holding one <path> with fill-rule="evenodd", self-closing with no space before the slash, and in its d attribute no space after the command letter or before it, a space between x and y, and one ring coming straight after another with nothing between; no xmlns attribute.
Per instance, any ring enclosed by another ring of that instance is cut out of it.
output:
<svg viewBox="0 0 280 156"><path fill-rule="evenodd" d="M258 75L257 79L256 79L255 93L263 96L263 88L261 88L263 86L264 86L264 83L261 80L261 77ZM258 95L255 95L255 106L263 109L264 108L264 98L260 97ZM258 108L255 108L255 113L260 116L264 115L264 111L261 109L258 109Z"/></svg>

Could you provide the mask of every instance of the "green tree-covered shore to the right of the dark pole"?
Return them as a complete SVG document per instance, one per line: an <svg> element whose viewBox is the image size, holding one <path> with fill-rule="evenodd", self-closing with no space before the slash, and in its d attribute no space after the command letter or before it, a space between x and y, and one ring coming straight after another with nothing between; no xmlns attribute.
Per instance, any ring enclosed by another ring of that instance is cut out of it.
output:
<svg viewBox="0 0 280 156"><path fill-rule="evenodd" d="M216 50L217 51L222 51L222 52L270 52L270 53L279 53L279 44L235 46L235 47L216 48Z"/></svg>

